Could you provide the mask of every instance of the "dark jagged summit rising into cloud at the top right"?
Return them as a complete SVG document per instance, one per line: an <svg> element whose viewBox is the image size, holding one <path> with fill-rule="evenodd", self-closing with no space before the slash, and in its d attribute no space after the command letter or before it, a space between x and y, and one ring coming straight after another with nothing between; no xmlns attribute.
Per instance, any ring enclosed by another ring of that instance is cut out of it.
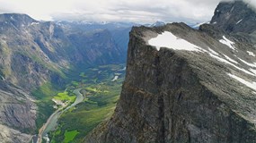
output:
<svg viewBox="0 0 256 143"><path fill-rule="evenodd" d="M252 33L256 29L256 12L243 1L221 2L210 23L227 32Z"/></svg>

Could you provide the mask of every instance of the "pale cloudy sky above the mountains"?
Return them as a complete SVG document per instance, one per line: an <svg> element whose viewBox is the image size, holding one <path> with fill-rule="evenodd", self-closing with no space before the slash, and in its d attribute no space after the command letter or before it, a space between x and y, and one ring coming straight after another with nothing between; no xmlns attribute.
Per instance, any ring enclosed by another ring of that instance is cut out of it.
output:
<svg viewBox="0 0 256 143"><path fill-rule="evenodd" d="M220 0L0 0L0 13L44 21L210 21ZM252 0L255 1L255 0Z"/></svg>

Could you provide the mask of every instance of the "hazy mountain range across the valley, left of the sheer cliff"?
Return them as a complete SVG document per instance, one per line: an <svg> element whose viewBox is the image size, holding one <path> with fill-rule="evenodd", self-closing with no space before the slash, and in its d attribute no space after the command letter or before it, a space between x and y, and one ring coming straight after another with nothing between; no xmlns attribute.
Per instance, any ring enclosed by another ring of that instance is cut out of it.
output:
<svg viewBox="0 0 256 143"><path fill-rule="evenodd" d="M125 63L125 47L119 45L126 38L116 42L114 37L107 29L80 30L26 14L0 14L0 140L29 142L38 120L47 118L41 110L53 110L52 101L40 99L49 88L65 88L70 72Z"/></svg>

